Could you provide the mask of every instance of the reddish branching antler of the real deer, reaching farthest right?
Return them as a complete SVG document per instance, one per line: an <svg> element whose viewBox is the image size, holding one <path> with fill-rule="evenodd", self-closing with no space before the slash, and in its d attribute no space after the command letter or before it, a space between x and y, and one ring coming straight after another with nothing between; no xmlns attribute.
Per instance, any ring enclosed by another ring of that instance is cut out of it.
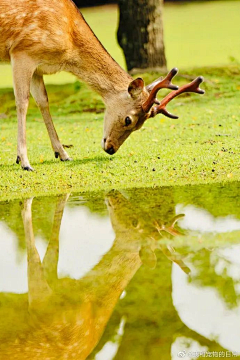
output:
<svg viewBox="0 0 240 360"><path fill-rule="evenodd" d="M163 114L172 119L178 119L178 116L169 113L166 109L166 105L176 96L184 92L195 92L197 94L204 94L205 91L199 88L199 85L203 82L203 77L199 76L191 83L181 86L178 90L170 92L160 103L152 109L150 117L154 117L157 114Z"/></svg>

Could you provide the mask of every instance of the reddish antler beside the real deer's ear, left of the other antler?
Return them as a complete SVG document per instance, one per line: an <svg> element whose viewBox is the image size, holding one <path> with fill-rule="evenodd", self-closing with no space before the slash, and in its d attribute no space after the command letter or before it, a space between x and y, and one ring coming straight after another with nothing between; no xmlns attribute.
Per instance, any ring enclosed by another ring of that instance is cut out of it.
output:
<svg viewBox="0 0 240 360"><path fill-rule="evenodd" d="M167 88L167 89L171 89L171 90L178 89L178 86L173 85L171 83L172 78L177 74L177 72L178 72L178 69L173 68L163 80L157 81L156 85L154 85L152 89L151 89L151 86L149 86L149 88L151 89L151 92L149 94L148 99L142 105L143 111L145 111L147 113L151 109L153 104L156 102L156 95L160 89L163 89L163 88Z"/></svg>

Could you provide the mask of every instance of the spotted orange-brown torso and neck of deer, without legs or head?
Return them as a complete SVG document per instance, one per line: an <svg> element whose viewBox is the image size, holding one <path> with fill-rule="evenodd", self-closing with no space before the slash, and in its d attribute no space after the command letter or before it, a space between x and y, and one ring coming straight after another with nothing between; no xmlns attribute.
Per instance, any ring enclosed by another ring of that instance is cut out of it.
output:
<svg viewBox="0 0 240 360"><path fill-rule="evenodd" d="M10 62L23 52L39 76L69 71L103 97L131 81L70 0L1 0L0 31L0 59Z"/></svg>

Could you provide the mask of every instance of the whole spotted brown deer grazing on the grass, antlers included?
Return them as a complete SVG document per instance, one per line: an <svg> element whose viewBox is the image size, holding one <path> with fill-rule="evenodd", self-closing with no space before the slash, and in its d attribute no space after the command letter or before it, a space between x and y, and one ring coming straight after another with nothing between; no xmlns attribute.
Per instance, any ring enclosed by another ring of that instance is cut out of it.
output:
<svg viewBox="0 0 240 360"><path fill-rule="evenodd" d="M170 118L166 105L184 92L203 94L203 78L180 88L164 78L145 86L133 79L105 50L71 0L0 0L0 61L10 62L18 119L17 164L33 171L26 145L26 115L30 93L38 105L54 151L61 161L71 160L61 144L49 110L43 75L67 71L101 95L106 106L102 148L117 152L129 135L157 114ZM160 89L173 90L161 102Z"/></svg>

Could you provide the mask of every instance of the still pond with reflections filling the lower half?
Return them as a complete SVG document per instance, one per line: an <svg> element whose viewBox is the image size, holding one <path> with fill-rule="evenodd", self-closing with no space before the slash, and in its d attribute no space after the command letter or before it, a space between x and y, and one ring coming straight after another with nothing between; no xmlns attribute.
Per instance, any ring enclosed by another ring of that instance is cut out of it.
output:
<svg viewBox="0 0 240 360"><path fill-rule="evenodd" d="M239 192L0 203L0 359L240 358Z"/></svg>

